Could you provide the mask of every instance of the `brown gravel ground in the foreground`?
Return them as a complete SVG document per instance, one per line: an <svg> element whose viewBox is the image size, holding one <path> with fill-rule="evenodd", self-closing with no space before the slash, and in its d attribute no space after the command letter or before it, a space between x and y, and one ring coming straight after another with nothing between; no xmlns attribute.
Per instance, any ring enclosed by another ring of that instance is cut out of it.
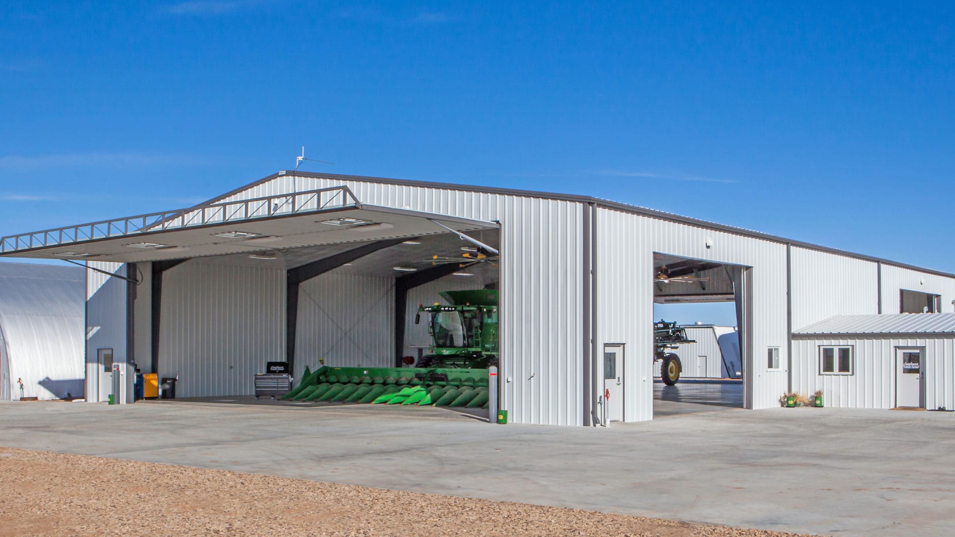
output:
<svg viewBox="0 0 955 537"><path fill-rule="evenodd" d="M0 490L0 536L796 535L10 448Z"/></svg>

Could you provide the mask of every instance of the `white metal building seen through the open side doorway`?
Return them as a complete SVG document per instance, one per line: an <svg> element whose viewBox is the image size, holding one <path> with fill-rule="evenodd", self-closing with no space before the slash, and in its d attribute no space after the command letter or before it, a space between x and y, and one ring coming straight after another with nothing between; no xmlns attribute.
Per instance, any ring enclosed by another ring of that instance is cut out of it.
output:
<svg viewBox="0 0 955 537"><path fill-rule="evenodd" d="M686 378L738 378L742 374L738 337L734 327L683 325L692 343L680 343L673 353L680 356ZM722 337L723 344L720 345ZM735 340L735 341L733 341ZM736 345L732 343L735 342ZM653 376L660 376L662 362L653 364Z"/></svg>

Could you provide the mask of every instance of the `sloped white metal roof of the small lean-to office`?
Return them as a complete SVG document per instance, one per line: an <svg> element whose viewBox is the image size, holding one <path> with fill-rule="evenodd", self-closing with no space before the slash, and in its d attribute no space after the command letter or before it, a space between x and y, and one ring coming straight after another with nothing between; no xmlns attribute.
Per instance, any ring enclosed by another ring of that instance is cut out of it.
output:
<svg viewBox="0 0 955 537"><path fill-rule="evenodd" d="M836 315L796 330L793 335L891 333L955 334L955 313Z"/></svg>

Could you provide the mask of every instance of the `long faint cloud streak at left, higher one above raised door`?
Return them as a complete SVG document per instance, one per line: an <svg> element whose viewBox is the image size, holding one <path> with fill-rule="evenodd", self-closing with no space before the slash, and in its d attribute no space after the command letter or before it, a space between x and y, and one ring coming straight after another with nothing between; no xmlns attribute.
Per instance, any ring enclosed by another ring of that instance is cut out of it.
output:
<svg viewBox="0 0 955 537"><path fill-rule="evenodd" d="M71 167L136 167L145 165L191 165L197 157L155 153L59 153L53 155L7 155L0 157L0 169L36 170Z"/></svg>

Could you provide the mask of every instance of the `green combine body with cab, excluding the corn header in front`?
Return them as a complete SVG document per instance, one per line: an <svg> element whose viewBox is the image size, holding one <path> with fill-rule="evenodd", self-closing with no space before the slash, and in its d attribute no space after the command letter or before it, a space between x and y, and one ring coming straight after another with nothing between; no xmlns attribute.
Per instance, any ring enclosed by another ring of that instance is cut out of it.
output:
<svg viewBox="0 0 955 537"><path fill-rule="evenodd" d="M422 356L420 368L486 369L498 365L498 291L449 290L441 293L451 306L418 307L431 315L428 332L432 347Z"/></svg>

